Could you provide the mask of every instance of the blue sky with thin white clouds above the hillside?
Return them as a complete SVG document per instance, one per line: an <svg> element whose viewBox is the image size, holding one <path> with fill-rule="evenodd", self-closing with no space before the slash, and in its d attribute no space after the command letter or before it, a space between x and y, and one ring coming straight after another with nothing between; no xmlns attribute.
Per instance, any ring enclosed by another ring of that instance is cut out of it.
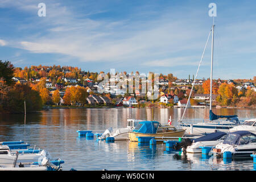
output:
<svg viewBox="0 0 256 182"><path fill-rule="evenodd" d="M46 4L46 17L38 4ZM0 59L15 67L195 75L217 5L213 78L256 76L255 1L0 0ZM198 78L210 76L210 42Z"/></svg>

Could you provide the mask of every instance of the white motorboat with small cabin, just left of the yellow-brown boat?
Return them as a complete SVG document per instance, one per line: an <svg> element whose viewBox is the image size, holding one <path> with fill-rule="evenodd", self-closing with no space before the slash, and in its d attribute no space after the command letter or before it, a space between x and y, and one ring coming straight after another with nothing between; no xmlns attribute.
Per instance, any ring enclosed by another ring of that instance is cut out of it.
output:
<svg viewBox="0 0 256 182"><path fill-rule="evenodd" d="M113 129L109 127L104 131L102 135L99 135L97 139L106 139L108 137L114 137L114 140L129 140L128 133L133 131L139 122L143 120L140 119L127 119L127 126L125 128Z"/></svg>

